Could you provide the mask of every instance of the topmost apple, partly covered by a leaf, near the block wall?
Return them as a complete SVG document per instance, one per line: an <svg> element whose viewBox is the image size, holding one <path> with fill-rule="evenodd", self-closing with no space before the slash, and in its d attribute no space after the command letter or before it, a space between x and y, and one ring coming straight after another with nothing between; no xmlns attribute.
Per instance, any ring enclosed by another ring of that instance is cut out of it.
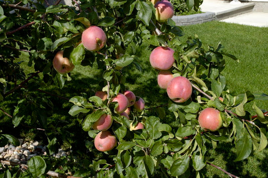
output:
<svg viewBox="0 0 268 178"><path fill-rule="evenodd" d="M158 22L166 22L167 19L172 18L174 15L174 10L172 4L167 1L158 1L154 5L155 8L155 19Z"/></svg>

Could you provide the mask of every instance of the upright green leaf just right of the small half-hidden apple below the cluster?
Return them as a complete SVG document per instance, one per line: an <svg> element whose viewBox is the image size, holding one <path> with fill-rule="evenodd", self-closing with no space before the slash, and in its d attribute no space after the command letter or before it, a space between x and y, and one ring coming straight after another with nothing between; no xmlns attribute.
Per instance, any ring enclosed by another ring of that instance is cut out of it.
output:
<svg viewBox="0 0 268 178"><path fill-rule="evenodd" d="M154 116L150 116L145 121L145 128L148 131L148 134L150 135L150 138L157 139L161 137L161 132L158 131L158 128L160 126L160 119Z"/></svg>

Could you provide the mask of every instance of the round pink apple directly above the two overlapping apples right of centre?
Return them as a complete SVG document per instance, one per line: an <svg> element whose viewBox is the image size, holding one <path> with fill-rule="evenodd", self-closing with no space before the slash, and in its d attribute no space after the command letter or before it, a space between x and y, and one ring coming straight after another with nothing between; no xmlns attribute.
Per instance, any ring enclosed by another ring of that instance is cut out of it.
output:
<svg viewBox="0 0 268 178"><path fill-rule="evenodd" d="M172 67L175 59L174 50L169 47L158 46L150 54L151 66L158 70L168 70Z"/></svg>

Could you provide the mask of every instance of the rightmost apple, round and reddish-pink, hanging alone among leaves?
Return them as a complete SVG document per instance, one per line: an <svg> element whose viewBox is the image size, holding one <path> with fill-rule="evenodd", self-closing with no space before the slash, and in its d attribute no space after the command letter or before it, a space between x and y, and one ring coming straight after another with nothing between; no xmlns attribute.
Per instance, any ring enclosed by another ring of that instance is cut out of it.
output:
<svg viewBox="0 0 268 178"><path fill-rule="evenodd" d="M204 130L217 131L222 126L221 114L214 108L206 108L199 114L198 122Z"/></svg>

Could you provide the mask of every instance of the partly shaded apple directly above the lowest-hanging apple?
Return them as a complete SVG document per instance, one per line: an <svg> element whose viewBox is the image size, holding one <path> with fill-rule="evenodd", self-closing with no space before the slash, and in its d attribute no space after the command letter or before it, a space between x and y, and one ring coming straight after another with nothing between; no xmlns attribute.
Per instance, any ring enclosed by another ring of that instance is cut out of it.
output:
<svg viewBox="0 0 268 178"><path fill-rule="evenodd" d="M98 121L96 121L92 128L94 130L108 130L113 124L111 115L103 114Z"/></svg>

